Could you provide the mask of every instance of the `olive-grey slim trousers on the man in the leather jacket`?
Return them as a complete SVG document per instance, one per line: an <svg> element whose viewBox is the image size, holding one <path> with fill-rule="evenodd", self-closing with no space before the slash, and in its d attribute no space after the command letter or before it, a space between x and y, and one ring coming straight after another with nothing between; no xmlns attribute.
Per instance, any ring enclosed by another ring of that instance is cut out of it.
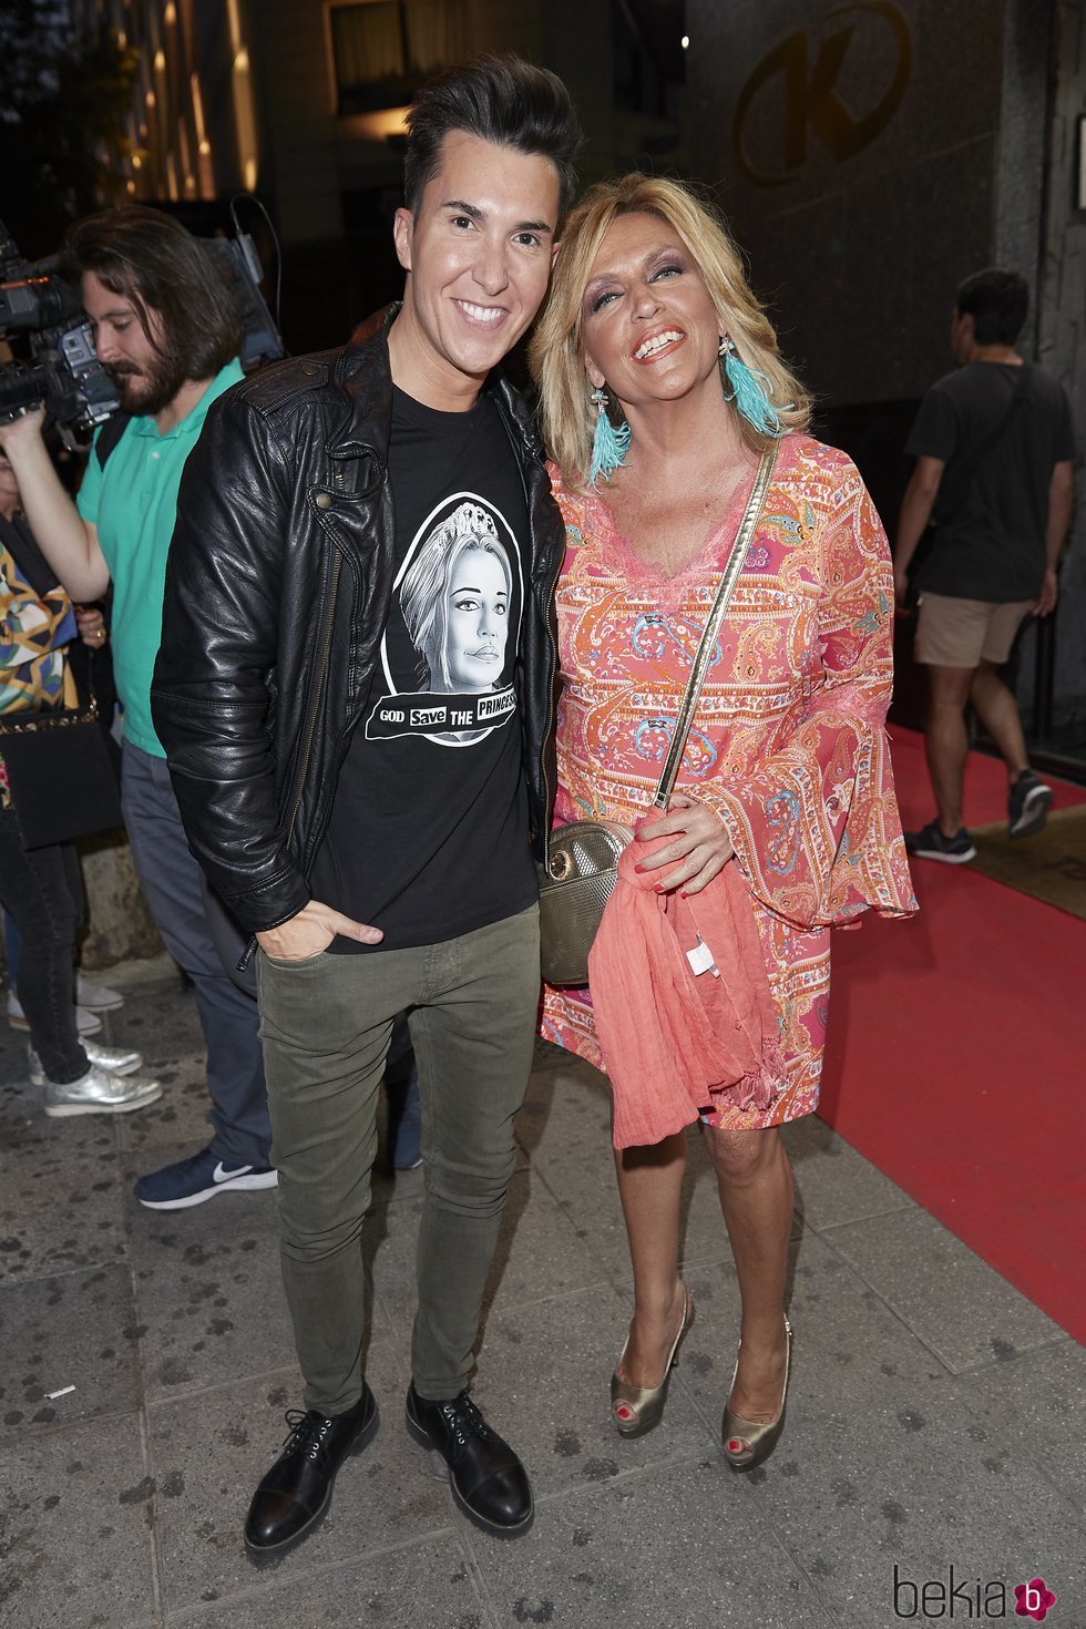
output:
<svg viewBox="0 0 1086 1629"><path fill-rule="evenodd" d="M423 1398L471 1375L482 1293L513 1173L513 1116L531 1074L539 907L417 950L259 956L283 1284L306 1407L361 1396L361 1223L376 1101L407 1010L422 1087L425 1205L412 1373Z"/></svg>

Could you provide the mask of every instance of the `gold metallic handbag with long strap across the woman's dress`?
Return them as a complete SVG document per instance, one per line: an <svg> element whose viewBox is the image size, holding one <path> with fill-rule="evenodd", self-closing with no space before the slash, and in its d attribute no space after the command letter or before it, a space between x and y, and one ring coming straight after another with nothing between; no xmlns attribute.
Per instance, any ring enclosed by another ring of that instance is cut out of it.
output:
<svg viewBox="0 0 1086 1629"><path fill-rule="evenodd" d="M685 749L720 626L728 611L751 538L762 515L762 503L777 463L777 441L762 454L759 472L731 546L725 573L697 647L682 707L671 733L664 769L653 808L666 810ZM609 819L578 819L555 826L547 844L547 867L539 867L539 930L542 976L547 984L588 984L588 953L593 948L604 909L619 880L619 857L633 841L630 826Z"/></svg>

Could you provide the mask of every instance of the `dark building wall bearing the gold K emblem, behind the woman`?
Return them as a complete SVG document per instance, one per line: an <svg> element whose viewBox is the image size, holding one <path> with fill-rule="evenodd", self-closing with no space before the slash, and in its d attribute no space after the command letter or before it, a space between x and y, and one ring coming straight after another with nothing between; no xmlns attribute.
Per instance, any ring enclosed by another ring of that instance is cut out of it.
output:
<svg viewBox="0 0 1086 1629"><path fill-rule="evenodd" d="M956 285L1027 277L1021 347L1086 433L1084 0L690 0L690 151L821 425L892 531ZM1081 485L1081 484L1079 484ZM1055 624L1018 653L1034 733L1086 761L1086 503ZM899 689L920 692L902 665ZM915 715L915 709L913 709Z"/></svg>

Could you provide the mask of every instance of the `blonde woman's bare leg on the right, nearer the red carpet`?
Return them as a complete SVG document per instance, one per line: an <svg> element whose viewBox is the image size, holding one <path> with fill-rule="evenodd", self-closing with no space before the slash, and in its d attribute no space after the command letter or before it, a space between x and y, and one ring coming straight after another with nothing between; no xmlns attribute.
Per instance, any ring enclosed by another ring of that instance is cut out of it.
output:
<svg viewBox="0 0 1086 1629"><path fill-rule="evenodd" d="M742 1326L731 1407L752 1424L780 1411L785 1383L785 1279L791 1233L791 1165L780 1131L705 1132L739 1276Z"/></svg>

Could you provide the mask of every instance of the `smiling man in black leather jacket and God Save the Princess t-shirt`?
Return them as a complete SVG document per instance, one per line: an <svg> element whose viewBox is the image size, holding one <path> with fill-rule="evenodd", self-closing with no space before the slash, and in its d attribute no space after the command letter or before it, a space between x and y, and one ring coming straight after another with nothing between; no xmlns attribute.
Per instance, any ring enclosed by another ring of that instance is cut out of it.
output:
<svg viewBox="0 0 1086 1629"><path fill-rule="evenodd" d="M532 1494L467 1394L539 1002L563 529L495 371L547 288L580 132L513 57L409 112L404 301L208 415L177 502L155 720L192 849L256 935L283 1282L306 1383L254 1561L376 1430L360 1233L392 1021L422 1083L407 1430L482 1528Z"/></svg>

